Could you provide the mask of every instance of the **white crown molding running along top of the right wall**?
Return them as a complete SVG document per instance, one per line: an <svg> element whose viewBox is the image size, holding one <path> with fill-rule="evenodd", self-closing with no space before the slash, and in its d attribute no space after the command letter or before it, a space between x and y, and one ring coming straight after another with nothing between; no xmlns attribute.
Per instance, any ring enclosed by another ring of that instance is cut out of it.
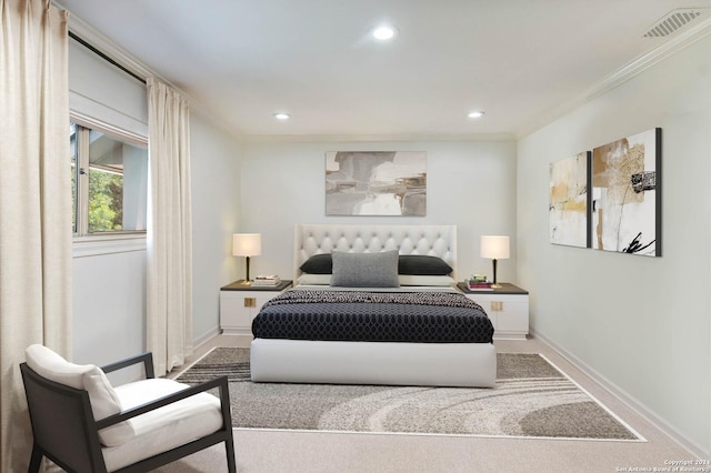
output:
<svg viewBox="0 0 711 473"><path fill-rule="evenodd" d="M618 69L613 73L607 76L603 80L592 85L590 89L578 95L577 98L552 109L549 113L540 117L534 122L522 127L517 133L518 139L522 139L541 128L552 123L553 121L564 117L573 110L593 101L594 99L610 92L611 90L622 85L630 79L641 74L648 69L664 59L678 53L697 41L711 34L711 16L699 21L699 23L689 26L684 30L679 31L672 39L663 42L652 51L640 56L632 62ZM650 39L655 41L655 39Z"/></svg>

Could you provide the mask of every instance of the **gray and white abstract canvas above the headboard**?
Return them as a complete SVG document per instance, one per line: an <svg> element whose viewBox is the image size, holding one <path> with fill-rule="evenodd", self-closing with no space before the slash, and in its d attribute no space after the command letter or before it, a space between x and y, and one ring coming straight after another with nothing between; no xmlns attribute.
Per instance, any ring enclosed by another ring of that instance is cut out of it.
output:
<svg viewBox="0 0 711 473"><path fill-rule="evenodd" d="M329 151L327 215L427 214L427 153Z"/></svg>

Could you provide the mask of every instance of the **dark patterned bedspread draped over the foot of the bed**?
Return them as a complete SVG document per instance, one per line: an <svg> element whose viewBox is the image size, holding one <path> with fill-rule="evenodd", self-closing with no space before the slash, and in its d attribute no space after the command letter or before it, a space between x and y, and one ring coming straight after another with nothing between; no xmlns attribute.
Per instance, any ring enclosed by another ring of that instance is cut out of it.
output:
<svg viewBox="0 0 711 473"><path fill-rule="evenodd" d="M262 339L410 343L491 343L483 309L454 292L292 290L252 322Z"/></svg>

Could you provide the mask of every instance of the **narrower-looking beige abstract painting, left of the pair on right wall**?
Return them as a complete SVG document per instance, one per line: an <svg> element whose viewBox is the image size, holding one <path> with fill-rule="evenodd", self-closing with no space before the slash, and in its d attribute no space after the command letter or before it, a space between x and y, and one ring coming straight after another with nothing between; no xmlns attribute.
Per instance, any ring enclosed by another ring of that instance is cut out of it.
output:
<svg viewBox="0 0 711 473"><path fill-rule="evenodd" d="M549 222L551 243L590 246L590 151L551 163Z"/></svg>

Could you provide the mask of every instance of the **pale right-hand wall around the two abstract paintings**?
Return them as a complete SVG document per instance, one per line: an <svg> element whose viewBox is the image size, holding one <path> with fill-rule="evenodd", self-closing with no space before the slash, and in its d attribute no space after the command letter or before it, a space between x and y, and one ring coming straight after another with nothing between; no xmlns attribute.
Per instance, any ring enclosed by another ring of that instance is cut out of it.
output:
<svg viewBox="0 0 711 473"><path fill-rule="evenodd" d="M534 331L709 457L711 39L519 142L519 279ZM549 243L549 163L662 128L663 256Z"/></svg>

